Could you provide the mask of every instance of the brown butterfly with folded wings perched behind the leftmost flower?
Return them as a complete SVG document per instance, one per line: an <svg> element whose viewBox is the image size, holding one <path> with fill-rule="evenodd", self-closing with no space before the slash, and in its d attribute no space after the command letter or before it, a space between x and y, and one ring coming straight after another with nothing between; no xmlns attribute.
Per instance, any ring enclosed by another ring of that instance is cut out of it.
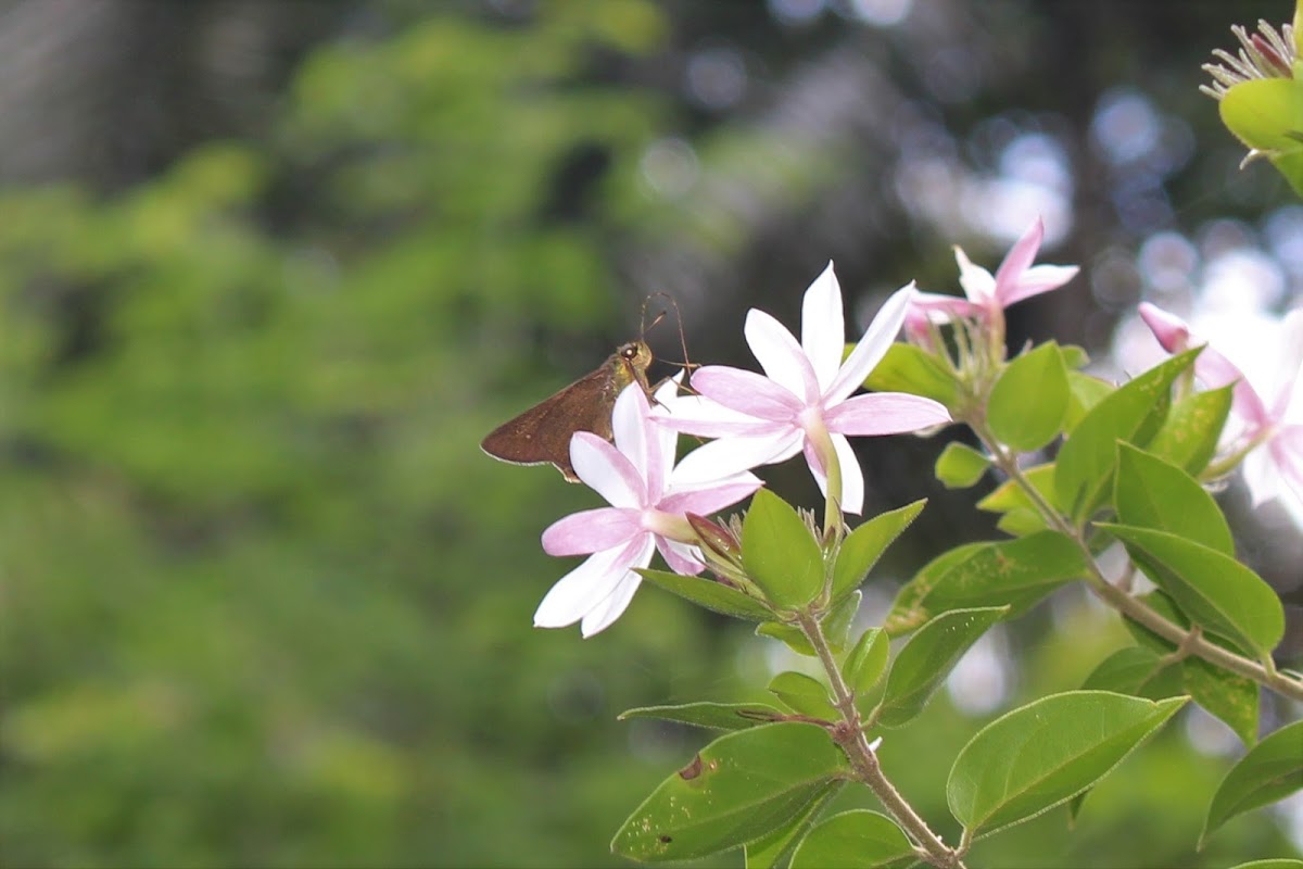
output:
<svg viewBox="0 0 1303 869"><path fill-rule="evenodd" d="M543 399L515 420L502 423L481 442L494 459L516 465L551 463L572 483L579 482L569 461L569 442L576 431L592 431L610 440L615 399L631 383L652 395L648 366L652 348L641 339L620 344L599 369Z"/></svg>

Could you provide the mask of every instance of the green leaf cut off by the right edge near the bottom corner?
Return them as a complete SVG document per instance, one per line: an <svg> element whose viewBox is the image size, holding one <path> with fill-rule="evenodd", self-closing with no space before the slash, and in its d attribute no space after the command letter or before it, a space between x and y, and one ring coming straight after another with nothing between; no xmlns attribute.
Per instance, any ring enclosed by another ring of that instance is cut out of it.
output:
<svg viewBox="0 0 1303 869"><path fill-rule="evenodd" d="M1204 831L1199 836L1200 847L1217 827L1237 814L1283 800L1300 788L1303 788L1303 722L1294 722L1248 749L1248 753L1230 767L1208 806Z"/></svg>

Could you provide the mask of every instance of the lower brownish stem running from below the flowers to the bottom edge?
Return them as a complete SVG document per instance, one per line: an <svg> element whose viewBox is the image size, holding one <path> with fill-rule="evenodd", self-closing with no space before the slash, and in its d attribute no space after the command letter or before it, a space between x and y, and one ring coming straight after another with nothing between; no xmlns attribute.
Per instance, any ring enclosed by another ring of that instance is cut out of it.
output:
<svg viewBox="0 0 1303 869"><path fill-rule="evenodd" d="M837 709L842 713L842 724L834 728L833 739L850 758L856 780L868 786L882 801L883 808L919 843L921 849L919 856L923 860L942 869L964 869L963 851L946 847L946 843L932 831L928 822L913 810L913 806L882 774L882 765L878 763L877 754L869 748L869 737L860 727L860 711L855 707L855 693L842 677L842 670L837 666L833 649L829 646L827 637L823 636L823 627L818 619L809 612L800 612L796 616L796 623L818 654L820 663L823 664L823 671L827 674L827 681L833 687Z"/></svg>

